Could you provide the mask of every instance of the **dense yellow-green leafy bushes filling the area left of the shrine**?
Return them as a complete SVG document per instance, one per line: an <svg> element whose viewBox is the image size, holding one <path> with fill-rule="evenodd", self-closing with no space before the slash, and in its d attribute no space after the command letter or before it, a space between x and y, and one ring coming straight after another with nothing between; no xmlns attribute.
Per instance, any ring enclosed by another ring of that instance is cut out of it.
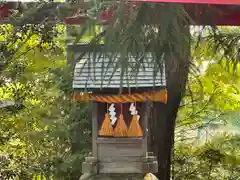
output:
<svg viewBox="0 0 240 180"><path fill-rule="evenodd" d="M22 108L0 109L0 178L77 179L91 148L90 105L71 100L65 47L39 47L38 35L14 43L14 56L1 71L0 100L12 99Z"/></svg>

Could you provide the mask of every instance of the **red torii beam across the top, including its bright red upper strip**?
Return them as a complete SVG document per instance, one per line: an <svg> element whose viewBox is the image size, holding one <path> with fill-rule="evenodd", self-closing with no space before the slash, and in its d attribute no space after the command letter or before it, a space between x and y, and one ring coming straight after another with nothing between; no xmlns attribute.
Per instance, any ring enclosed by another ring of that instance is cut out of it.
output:
<svg viewBox="0 0 240 180"><path fill-rule="evenodd" d="M194 20L194 25L240 26L240 0L126 0L127 2L182 3ZM114 13L114 7L100 13L100 19L107 21ZM206 17L207 16L207 17ZM86 19L65 18L67 24L81 24Z"/></svg>

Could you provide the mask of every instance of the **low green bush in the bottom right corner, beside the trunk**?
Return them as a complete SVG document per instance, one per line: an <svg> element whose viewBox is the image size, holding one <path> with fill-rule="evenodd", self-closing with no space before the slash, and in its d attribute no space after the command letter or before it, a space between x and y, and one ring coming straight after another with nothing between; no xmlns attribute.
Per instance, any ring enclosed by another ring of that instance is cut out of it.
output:
<svg viewBox="0 0 240 180"><path fill-rule="evenodd" d="M239 136L222 135L200 146L177 143L173 159L175 179L237 180L240 176L239 140Z"/></svg>

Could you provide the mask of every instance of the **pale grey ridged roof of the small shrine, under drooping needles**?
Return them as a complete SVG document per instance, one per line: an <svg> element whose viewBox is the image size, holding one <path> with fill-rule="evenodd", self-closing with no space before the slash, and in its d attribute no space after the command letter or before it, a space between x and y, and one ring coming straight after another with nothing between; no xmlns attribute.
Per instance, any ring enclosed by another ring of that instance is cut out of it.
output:
<svg viewBox="0 0 240 180"><path fill-rule="evenodd" d="M143 59L143 65L139 68L139 72L135 73L136 60L133 56L129 56L128 73L124 73L121 79L120 64L115 67L119 56L110 59L102 54L97 53L96 62L91 62L93 54L88 53L76 63L73 88L74 89L103 89L103 88L147 88L147 87L165 87L165 66L156 70L151 56ZM89 62L90 61L90 62ZM109 63L111 62L111 63ZM155 78L154 78L155 75ZM122 82L122 86L121 86Z"/></svg>

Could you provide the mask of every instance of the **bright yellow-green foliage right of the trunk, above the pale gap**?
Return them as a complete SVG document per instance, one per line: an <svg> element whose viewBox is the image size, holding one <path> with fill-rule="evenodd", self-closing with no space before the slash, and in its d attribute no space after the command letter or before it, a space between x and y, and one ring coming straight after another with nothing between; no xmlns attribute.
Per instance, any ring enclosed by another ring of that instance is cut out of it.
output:
<svg viewBox="0 0 240 180"><path fill-rule="evenodd" d="M177 134L202 129L217 121L237 122L237 116L233 120L230 114L240 108L239 72L229 71L226 63L229 60L211 51L205 41L193 48L192 54L193 68L178 113Z"/></svg>

